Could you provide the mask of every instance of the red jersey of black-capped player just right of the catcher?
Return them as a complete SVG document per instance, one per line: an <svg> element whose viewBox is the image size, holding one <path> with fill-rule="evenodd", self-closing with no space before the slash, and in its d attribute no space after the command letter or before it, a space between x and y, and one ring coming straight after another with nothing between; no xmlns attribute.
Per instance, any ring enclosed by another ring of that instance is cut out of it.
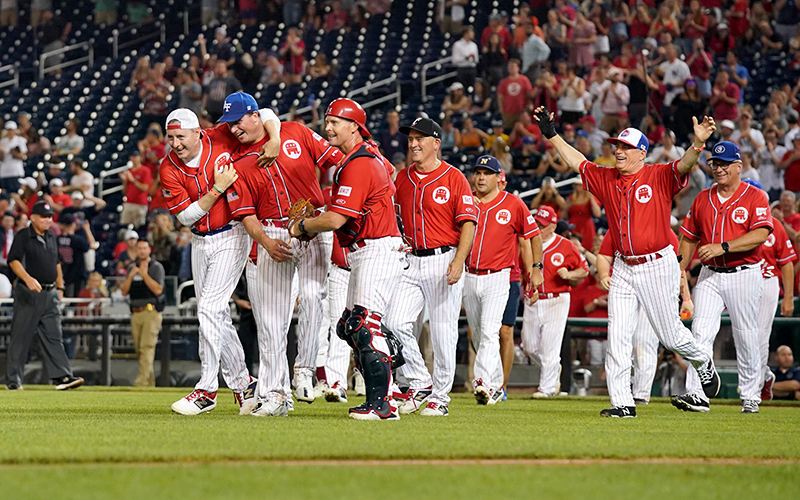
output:
<svg viewBox="0 0 800 500"><path fill-rule="evenodd" d="M446 162L427 174L409 165L395 183L406 243L414 250L458 246L459 224L478 222L467 178Z"/></svg>

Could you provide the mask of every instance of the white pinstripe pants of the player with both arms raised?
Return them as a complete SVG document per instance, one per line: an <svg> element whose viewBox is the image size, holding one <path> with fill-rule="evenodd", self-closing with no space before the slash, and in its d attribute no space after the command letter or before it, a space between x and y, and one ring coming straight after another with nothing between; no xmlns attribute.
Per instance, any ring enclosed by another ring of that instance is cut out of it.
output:
<svg viewBox="0 0 800 500"><path fill-rule="evenodd" d="M672 247L658 252L661 258L631 266L614 260L614 275L608 291L608 355L606 380L612 406L634 406L631 394L633 333L644 310L650 325L667 349L677 352L692 365L711 358L678 313L680 267Z"/></svg>

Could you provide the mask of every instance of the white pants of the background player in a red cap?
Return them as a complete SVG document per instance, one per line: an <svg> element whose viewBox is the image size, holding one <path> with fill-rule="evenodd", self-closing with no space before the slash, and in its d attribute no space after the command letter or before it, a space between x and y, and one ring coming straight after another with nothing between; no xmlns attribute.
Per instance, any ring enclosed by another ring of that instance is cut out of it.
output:
<svg viewBox="0 0 800 500"><path fill-rule="evenodd" d="M525 302L522 313L522 349L541 368L539 391L554 394L558 388L561 343L567 327L570 295Z"/></svg>

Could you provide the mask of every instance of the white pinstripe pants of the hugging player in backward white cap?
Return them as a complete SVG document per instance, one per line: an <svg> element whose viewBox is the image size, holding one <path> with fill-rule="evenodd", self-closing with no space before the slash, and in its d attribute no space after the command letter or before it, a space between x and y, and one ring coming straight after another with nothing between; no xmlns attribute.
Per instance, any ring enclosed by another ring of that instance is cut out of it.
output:
<svg viewBox="0 0 800 500"><path fill-rule="evenodd" d="M242 275L249 242L244 226L237 223L223 233L205 237L192 235L192 277L200 323L201 365L200 381L195 389L216 392L220 365L222 377L232 390L244 391L250 383L244 351L228 305Z"/></svg>

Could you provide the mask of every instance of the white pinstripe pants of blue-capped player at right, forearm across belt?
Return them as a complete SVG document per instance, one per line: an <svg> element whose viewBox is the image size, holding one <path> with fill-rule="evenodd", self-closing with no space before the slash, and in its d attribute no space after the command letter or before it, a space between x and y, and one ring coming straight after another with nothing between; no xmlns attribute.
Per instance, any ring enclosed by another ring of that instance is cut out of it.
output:
<svg viewBox="0 0 800 500"><path fill-rule="evenodd" d="M764 290L761 266L755 265L736 273L715 273L707 267L700 271L694 289L692 333L698 345L708 353L714 349L714 339L725 308L731 316L736 363L739 374L739 397L761 401L764 383L759 349L758 311ZM686 390L708 400L703 394L697 371L686 372Z"/></svg>

